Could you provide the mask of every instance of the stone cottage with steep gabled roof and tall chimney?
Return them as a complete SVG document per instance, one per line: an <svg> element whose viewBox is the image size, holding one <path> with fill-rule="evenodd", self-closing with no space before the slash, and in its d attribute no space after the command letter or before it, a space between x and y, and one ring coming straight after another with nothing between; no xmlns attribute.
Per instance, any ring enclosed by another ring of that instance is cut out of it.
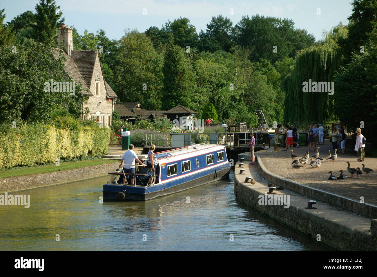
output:
<svg viewBox="0 0 377 277"><path fill-rule="evenodd" d="M98 49L73 50L72 29L64 24L58 28L58 45L65 46L64 69L73 81L81 82L82 95L88 97L83 103L82 119L95 118L99 124L110 127L117 95L104 78ZM55 55L58 57L58 52Z"/></svg>

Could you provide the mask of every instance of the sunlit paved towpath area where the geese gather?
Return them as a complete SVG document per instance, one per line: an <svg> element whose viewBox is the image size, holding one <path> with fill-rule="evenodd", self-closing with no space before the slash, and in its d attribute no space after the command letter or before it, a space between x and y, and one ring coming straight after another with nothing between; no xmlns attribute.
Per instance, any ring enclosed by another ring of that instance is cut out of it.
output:
<svg viewBox="0 0 377 277"><path fill-rule="evenodd" d="M328 139L325 140L324 145L317 146L320 147L320 158L323 159L329 155L329 149L331 152L333 151L333 147ZM293 148L293 153L302 158L307 150L308 147L300 146L299 148ZM281 147L277 151L274 151L272 147L269 150L257 151L256 155L259 155L259 158L262 159L266 169L277 176L357 201L360 201L360 196L363 196L366 203L377 205L377 158L365 157L364 162L357 162L356 159L358 157L356 156L356 152L354 153L339 154L334 164L332 161L328 162L324 160L319 168L313 168L307 164L307 167L298 169L292 168L291 152L284 151ZM315 153L310 152L309 154L311 157ZM369 173L369 177L365 176L365 173L362 171L363 174L359 178L357 178L356 174L351 178L351 174L347 171L347 161L350 162L350 167L360 167L361 169L362 164L365 164L365 167L371 168L374 171ZM339 170L343 170L343 174L348 175L347 180L328 180L330 176L329 171L333 171L333 175L339 176Z"/></svg>

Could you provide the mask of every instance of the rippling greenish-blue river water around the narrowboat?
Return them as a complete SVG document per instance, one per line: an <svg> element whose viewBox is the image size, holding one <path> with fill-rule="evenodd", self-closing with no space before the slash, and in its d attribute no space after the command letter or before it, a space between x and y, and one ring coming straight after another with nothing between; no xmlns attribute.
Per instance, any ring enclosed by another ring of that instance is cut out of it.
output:
<svg viewBox="0 0 377 277"><path fill-rule="evenodd" d="M327 250L239 202L233 173L146 202L100 204L108 176L12 193L31 204L0 206L0 250Z"/></svg>

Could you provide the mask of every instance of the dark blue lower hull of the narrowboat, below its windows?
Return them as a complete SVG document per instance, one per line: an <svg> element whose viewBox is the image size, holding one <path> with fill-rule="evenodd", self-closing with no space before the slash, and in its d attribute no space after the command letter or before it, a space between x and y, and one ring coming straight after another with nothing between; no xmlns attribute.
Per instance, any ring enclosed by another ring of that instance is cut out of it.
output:
<svg viewBox="0 0 377 277"><path fill-rule="evenodd" d="M174 181L164 184L156 184L151 187L135 187L129 185L103 185L103 200L104 201L119 201L117 195L123 191L127 200L149 200L160 196L176 193L187 190L189 188L198 187L200 185L208 184L210 182L218 181L229 177L230 165L223 165L192 174L187 177L182 177Z"/></svg>

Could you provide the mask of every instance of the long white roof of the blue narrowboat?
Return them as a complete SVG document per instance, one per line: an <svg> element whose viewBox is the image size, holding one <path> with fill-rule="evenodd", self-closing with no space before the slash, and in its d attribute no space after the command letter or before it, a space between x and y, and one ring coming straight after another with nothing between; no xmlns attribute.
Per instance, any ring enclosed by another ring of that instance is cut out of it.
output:
<svg viewBox="0 0 377 277"><path fill-rule="evenodd" d="M192 156L198 156L205 153L210 153L218 150L225 150L225 146L221 144L195 144L182 148L175 148L172 150L166 150L162 152L156 152L156 158L159 163L179 161L182 159L189 159Z"/></svg>

